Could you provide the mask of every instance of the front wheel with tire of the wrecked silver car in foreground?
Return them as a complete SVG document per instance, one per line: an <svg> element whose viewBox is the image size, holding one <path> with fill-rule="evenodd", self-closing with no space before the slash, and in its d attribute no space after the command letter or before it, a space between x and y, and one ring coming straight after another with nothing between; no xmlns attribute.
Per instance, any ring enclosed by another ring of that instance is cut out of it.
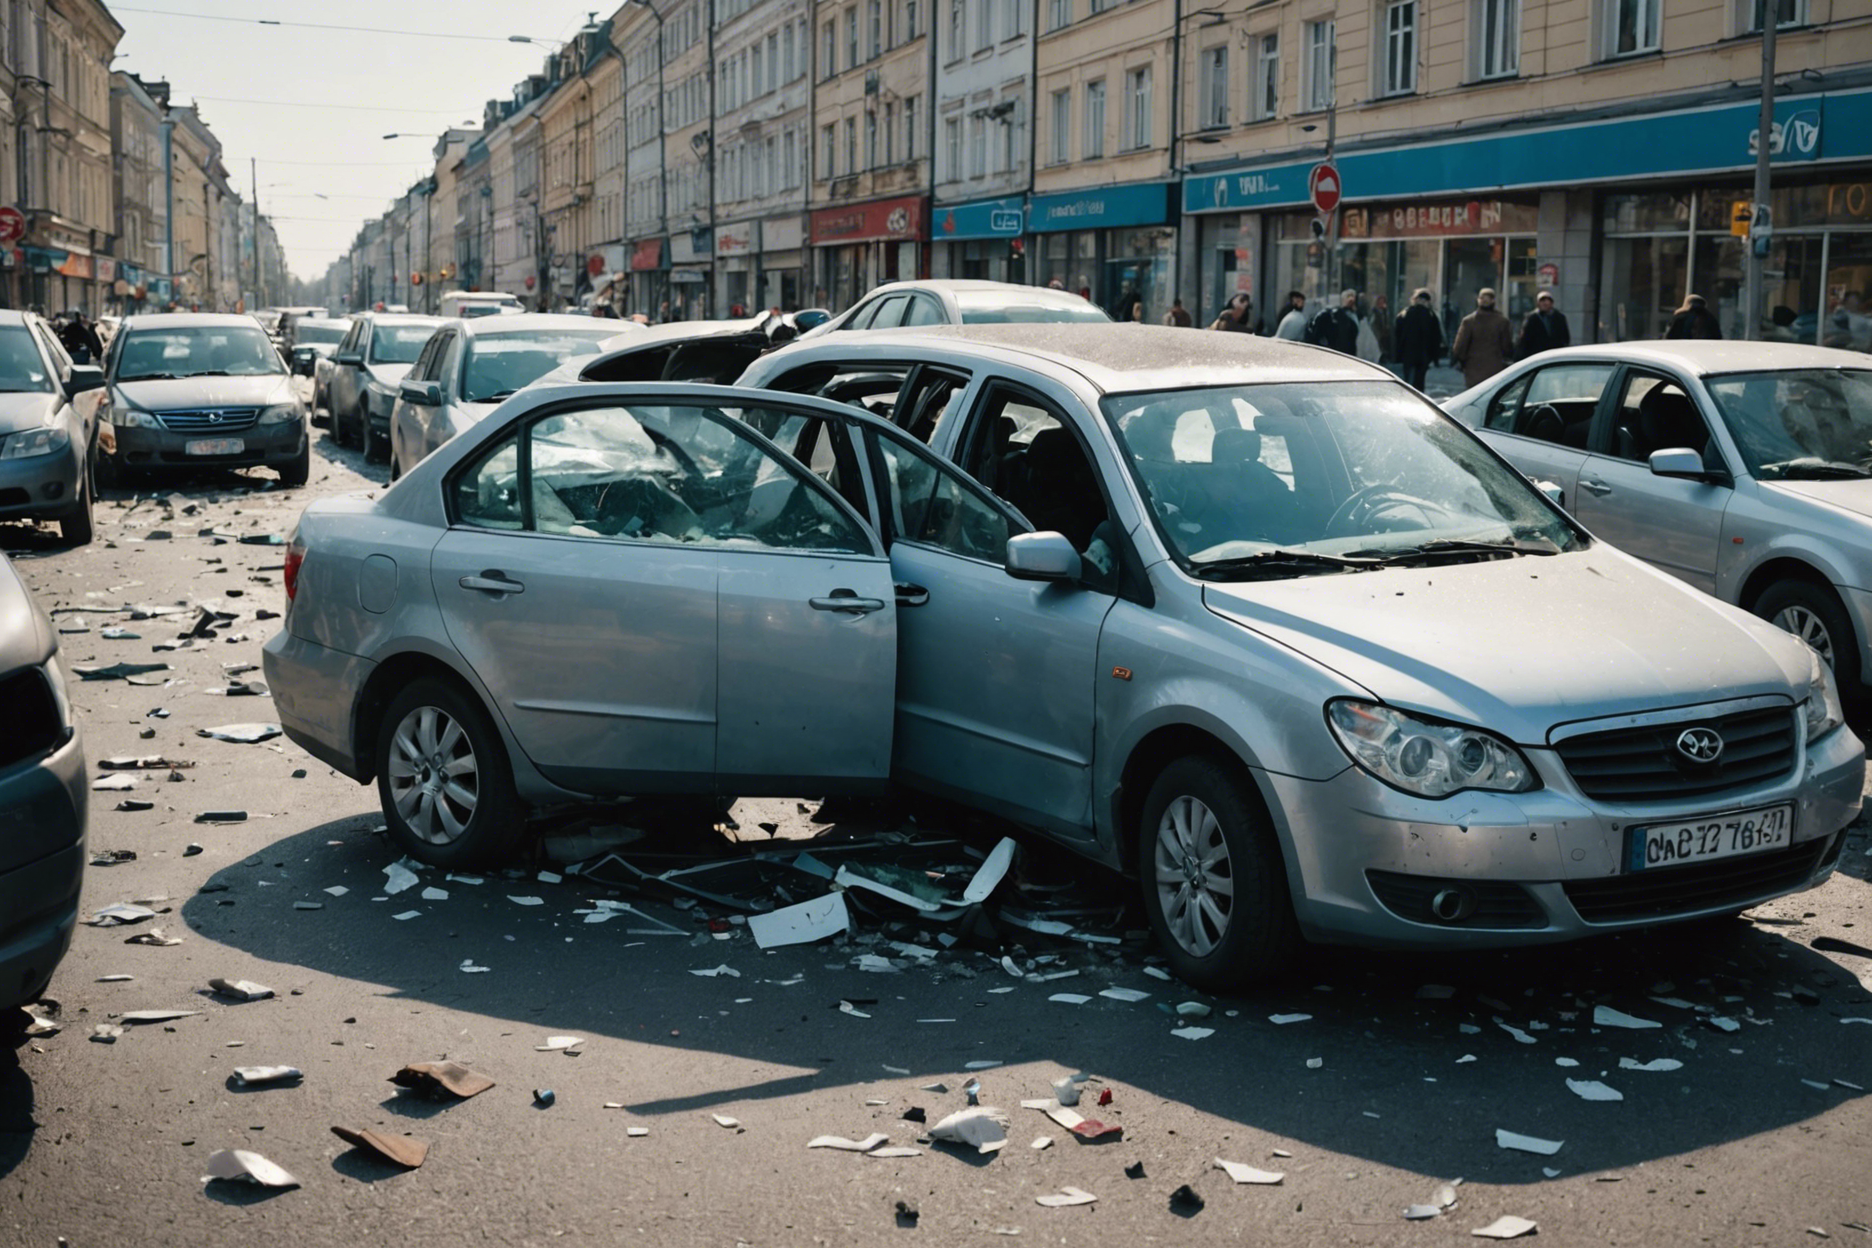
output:
<svg viewBox="0 0 1872 1248"><path fill-rule="evenodd" d="M1219 762L1179 758L1151 784L1138 878L1157 943L1185 982L1222 992L1292 967L1301 941L1279 842Z"/></svg>

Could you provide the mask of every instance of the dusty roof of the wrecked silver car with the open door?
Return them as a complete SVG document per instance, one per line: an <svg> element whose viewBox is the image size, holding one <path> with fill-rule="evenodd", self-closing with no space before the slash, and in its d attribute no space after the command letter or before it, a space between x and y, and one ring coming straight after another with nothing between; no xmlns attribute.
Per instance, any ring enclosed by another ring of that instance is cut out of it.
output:
<svg viewBox="0 0 1872 1248"><path fill-rule="evenodd" d="M1250 333L1204 333L1138 324L925 326L867 329L863 335L805 339L773 354L775 367L797 352L887 359L893 350L930 346L983 357L1024 356L1071 369L1103 393L1192 389L1267 382L1395 382L1389 369L1324 346Z"/></svg>

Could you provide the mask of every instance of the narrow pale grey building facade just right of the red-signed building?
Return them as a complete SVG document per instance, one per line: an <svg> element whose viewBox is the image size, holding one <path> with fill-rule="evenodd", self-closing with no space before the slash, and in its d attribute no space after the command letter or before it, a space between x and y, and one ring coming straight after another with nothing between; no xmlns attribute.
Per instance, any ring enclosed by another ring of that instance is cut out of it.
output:
<svg viewBox="0 0 1872 1248"><path fill-rule="evenodd" d="M938 2L930 275L1026 281L1033 2Z"/></svg>

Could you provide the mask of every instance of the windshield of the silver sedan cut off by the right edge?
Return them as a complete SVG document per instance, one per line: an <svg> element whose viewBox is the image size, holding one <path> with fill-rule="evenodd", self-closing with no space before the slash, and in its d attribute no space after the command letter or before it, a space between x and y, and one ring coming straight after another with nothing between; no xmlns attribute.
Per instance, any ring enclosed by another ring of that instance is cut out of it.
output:
<svg viewBox="0 0 1872 1248"><path fill-rule="evenodd" d="M1704 384L1750 475L1872 477L1872 369L1726 372Z"/></svg>

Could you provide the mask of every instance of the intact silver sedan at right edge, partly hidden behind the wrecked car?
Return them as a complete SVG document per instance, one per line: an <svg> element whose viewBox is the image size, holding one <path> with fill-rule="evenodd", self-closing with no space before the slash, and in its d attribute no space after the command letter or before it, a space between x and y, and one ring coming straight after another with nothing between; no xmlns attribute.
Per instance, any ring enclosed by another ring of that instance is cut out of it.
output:
<svg viewBox="0 0 1872 1248"><path fill-rule="evenodd" d="M1544 352L1443 402L1580 524L1872 675L1872 361L1792 342Z"/></svg>

